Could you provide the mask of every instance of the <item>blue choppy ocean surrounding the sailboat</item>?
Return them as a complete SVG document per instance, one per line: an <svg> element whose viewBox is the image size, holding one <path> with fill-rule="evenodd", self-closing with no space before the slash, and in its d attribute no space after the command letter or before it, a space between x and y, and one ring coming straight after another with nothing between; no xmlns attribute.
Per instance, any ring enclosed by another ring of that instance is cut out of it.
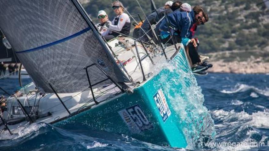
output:
<svg viewBox="0 0 269 151"><path fill-rule="evenodd" d="M211 146L204 146L201 150L268 151L269 75L209 73L207 76L196 76L196 78L204 94L204 105L208 108L216 129L215 141ZM24 84L30 81L23 79ZM18 85L17 79L0 79L0 86L9 93L13 93ZM174 151L185 149L157 146L126 135L104 131L60 129L50 124L35 123L24 128L18 135L0 135L0 150Z"/></svg>

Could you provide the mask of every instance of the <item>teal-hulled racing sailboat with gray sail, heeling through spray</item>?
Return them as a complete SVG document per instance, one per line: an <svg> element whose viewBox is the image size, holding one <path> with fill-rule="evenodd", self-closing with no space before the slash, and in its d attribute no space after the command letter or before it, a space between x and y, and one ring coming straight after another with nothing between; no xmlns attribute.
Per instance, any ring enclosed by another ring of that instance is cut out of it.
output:
<svg viewBox="0 0 269 151"><path fill-rule="evenodd" d="M181 43L106 42L77 0L2 0L0 20L34 81L8 98L0 128L44 122L182 148L214 138Z"/></svg>

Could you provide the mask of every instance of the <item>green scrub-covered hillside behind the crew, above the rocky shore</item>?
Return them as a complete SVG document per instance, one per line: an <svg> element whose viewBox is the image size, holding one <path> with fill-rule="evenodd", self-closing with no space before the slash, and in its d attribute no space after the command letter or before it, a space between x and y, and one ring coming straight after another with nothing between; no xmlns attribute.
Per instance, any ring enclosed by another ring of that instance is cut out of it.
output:
<svg viewBox="0 0 269 151"><path fill-rule="evenodd" d="M114 17L112 2L112 0L90 0L83 6L95 22L99 10L105 10L112 20ZM141 13L142 19L145 18L136 0L121 0L121 2L129 13L132 15ZM150 0L138 0L138 2L144 12L151 11ZM154 2L159 8L166 1L154 0ZM188 0L186 2L192 6L203 6L209 15L209 22L199 26L196 33L201 43L201 52L263 50L269 45L269 11L262 0ZM138 16L134 18L139 20Z"/></svg>

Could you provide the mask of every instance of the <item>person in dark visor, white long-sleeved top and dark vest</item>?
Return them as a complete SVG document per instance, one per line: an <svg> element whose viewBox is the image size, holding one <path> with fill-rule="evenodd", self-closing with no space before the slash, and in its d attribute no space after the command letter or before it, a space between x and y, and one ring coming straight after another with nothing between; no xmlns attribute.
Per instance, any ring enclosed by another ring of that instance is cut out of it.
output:
<svg viewBox="0 0 269 151"><path fill-rule="evenodd" d="M131 30L131 21L126 13L123 13L124 7L121 2L115 1L112 3L112 9L114 10L116 16L109 24L110 33L104 36L106 41L116 38L120 34L129 35Z"/></svg>

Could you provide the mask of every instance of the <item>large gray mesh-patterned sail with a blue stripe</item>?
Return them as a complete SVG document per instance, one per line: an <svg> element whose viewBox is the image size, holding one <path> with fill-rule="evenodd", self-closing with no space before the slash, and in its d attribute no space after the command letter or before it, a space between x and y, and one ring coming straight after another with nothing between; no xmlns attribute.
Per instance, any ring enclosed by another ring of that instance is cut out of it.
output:
<svg viewBox="0 0 269 151"><path fill-rule="evenodd" d="M116 82L130 82L72 0L1 0L0 28L45 92L88 88L84 67L96 63ZM93 66L92 84L107 79ZM110 80L103 82L111 83Z"/></svg>

